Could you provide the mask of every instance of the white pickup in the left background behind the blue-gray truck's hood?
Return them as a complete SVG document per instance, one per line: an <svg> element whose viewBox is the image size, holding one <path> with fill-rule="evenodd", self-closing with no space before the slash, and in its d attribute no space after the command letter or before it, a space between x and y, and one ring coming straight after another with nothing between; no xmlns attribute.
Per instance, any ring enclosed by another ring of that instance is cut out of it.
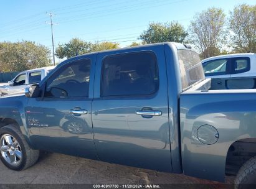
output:
<svg viewBox="0 0 256 189"><path fill-rule="evenodd" d="M39 83L55 67L43 67L19 73L7 85L0 86L0 96L24 91L27 85Z"/></svg>

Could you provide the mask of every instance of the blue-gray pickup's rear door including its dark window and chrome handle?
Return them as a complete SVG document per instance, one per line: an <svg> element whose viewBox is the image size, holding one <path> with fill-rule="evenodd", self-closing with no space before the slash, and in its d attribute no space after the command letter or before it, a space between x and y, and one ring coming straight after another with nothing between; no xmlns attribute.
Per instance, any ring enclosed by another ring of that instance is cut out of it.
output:
<svg viewBox="0 0 256 189"><path fill-rule="evenodd" d="M170 172L164 46L99 53L94 87L100 160Z"/></svg>

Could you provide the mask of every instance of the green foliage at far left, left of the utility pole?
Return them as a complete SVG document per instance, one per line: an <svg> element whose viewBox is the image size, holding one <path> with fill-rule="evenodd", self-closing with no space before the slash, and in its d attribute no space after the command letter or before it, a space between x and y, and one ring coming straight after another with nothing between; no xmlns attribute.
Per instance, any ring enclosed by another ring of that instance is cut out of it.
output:
<svg viewBox="0 0 256 189"><path fill-rule="evenodd" d="M0 43L0 72L24 71L50 65L50 50L35 42Z"/></svg>

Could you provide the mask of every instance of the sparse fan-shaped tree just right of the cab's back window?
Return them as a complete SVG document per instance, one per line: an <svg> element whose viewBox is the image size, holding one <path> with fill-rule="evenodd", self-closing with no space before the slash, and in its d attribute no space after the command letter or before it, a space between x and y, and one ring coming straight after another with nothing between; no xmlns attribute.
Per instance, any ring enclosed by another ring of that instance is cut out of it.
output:
<svg viewBox="0 0 256 189"><path fill-rule="evenodd" d="M202 58L219 55L227 35L224 27L222 9L212 7L194 16L189 25L189 41L201 52Z"/></svg>

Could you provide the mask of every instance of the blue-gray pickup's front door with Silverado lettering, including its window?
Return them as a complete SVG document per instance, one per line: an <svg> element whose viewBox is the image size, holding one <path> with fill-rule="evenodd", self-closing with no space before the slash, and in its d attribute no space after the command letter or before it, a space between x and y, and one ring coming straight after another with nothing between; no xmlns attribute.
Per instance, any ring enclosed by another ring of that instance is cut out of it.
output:
<svg viewBox="0 0 256 189"><path fill-rule="evenodd" d="M29 98L26 121L37 148L96 158L89 92L94 63L93 57L65 63L46 80L44 98Z"/></svg>

